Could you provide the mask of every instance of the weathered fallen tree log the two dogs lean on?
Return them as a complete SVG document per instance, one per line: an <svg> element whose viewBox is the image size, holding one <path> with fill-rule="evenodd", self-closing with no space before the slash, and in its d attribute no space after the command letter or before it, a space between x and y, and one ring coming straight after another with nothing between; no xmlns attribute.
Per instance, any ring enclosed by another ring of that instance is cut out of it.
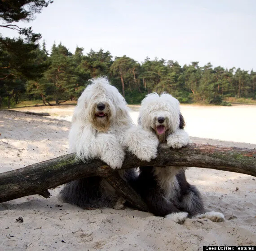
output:
<svg viewBox="0 0 256 251"><path fill-rule="evenodd" d="M150 162L138 160L136 156L127 153L122 169L137 166L201 167L256 176L256 150L190 143L181 149L159 147L157 158ZM115 182L111 177L115 173L115 170L101 160L75 162L75 154L67 154L21 169L0 173L0 203L35 194L48 198L50 196L48 189L82 177L110 178L113 185ZM118 189L118 186L123 186L124 189L120 189L123 194L128 193L129 189L125 188L125 184L119 182L115 187ZM138 208L146 211L145 203L140 201L140 197L128 199L133 205L137 204Z"/></svg>

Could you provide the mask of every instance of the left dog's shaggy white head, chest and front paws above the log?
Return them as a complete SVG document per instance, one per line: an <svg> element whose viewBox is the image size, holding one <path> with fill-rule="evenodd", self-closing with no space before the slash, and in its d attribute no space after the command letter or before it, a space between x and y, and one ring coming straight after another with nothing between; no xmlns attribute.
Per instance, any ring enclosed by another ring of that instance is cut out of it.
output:
<svg viewBox="0 0 256 251"><path fill-rule="evenodd" d="M156 157L155 135L132 123L129 109L119 91L107 78L90 80L79 97L69 133L70 152L78 159L100 158L119 169L128 148L141 160Z"/></svg>

